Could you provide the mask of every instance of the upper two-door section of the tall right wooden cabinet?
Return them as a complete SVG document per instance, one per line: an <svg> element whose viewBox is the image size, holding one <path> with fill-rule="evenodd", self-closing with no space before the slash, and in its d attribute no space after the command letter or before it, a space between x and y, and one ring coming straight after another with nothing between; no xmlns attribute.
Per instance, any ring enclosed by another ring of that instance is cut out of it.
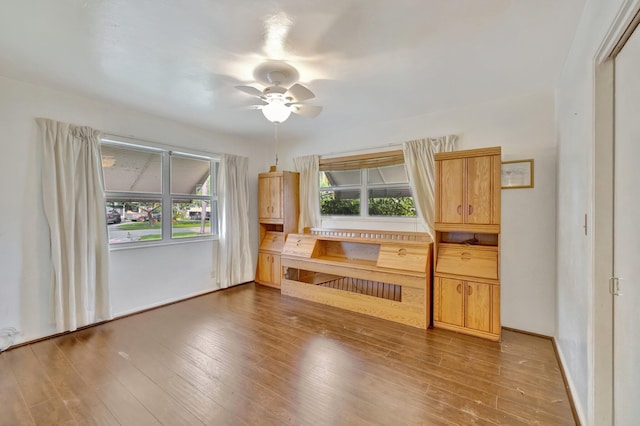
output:
<svg viewBox="0 0 640 426"><path fill-rule="evenodd" d="M436 160L436 230L498 232L501 150L439 153Z"/></svg>

